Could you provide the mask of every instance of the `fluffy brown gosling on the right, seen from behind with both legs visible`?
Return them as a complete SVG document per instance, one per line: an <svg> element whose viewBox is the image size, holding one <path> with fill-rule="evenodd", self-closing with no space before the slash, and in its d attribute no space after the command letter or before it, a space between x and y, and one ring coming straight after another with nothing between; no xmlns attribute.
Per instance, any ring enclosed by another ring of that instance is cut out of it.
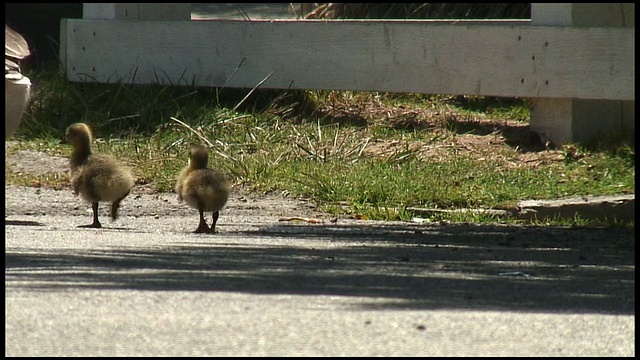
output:
<svg viewBox="0 0 640 360"><path fill-rule="evenodd" d="M208 168L208 162L206 147L198 145L191 148L189 165L182 169L175 186L178 200L200 212L200 223L194 233L215 233L220 210L229 199L229 181L222 173ZM204 212L209 211L212 212L211 227L204 219Z"/></svg>

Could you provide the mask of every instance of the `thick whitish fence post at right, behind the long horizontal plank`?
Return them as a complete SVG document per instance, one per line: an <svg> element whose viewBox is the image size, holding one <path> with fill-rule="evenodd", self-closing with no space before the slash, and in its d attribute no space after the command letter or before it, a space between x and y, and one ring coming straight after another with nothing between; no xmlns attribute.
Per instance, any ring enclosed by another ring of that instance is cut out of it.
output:
<svg viewBox="0 0 640 360"><path fill-rule="evenodd" d="M533 3L531 24L635 27L634 11L633 3ZM532 98L531 104L531 130L552 145L635 131L634 101Z"/></svg>

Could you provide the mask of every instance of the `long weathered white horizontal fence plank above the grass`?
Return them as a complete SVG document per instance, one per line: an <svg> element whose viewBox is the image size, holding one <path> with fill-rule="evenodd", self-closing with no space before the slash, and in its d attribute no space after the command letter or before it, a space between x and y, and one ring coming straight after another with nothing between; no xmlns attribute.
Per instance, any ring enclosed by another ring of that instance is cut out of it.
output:
<svg viewBox="0 0 640 360"><path fill-rule="evenodd" d="M63 20L70 81L632 100L634 29Z"/></svg>

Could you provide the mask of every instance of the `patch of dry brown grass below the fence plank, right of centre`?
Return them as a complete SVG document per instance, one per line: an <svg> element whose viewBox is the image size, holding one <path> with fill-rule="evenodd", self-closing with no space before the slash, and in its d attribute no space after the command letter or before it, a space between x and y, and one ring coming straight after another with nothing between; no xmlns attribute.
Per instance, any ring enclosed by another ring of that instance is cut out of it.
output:
<svg viewBox="0 0 640 360"><path fill-rule="evenodd" d="M532 169L565 160L563 149L545 147L526 122L465 113L447 106L390 106L375 94L335 92L320 104L317 114L327 124L360 128L357 136L370 139L363 151L369 157L387 158L410 152L418 159L448 161L466 155L479 162L500 160L505 167ZM405 136L377 137L372 134L376 129ZM353 132L343 131L340 136L356 136ZM428 139L413 136L427 132Z"/></svg>

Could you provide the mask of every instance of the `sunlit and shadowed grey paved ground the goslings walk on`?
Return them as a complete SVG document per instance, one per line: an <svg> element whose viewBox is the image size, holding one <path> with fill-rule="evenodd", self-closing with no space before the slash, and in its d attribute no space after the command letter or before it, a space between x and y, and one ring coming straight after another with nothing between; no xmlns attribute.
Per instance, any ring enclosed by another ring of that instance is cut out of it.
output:
<svg viewBox="0 0 640 360"><path fill-rule="evenodd" d="M635 355L628 231L334 223L234 194L208 236L143 193L89 230L68 190L5 195L7 356Z"/></svg>

